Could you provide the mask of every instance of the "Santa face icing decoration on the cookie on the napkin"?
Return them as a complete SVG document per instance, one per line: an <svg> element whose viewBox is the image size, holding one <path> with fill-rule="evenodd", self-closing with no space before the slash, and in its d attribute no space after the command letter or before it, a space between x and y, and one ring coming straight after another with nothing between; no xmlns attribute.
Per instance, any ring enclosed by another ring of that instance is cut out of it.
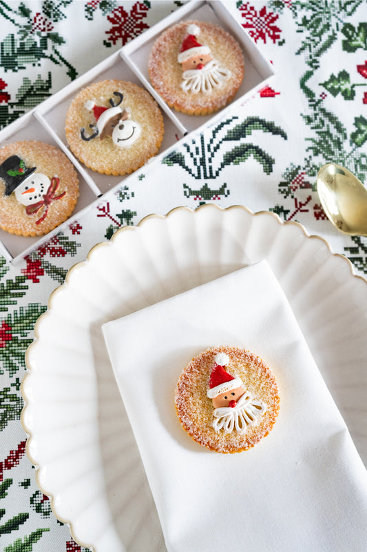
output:
<svg viewBox="0 0 367 552"><path fill-rule="evenodd" d="M224 366L228 363L228 355L218 353L211 371L207 396L215 407L213 428L224 433L245 433L248 426L258 423L266 406L245 390L239 377L226 371Z"/></svg>

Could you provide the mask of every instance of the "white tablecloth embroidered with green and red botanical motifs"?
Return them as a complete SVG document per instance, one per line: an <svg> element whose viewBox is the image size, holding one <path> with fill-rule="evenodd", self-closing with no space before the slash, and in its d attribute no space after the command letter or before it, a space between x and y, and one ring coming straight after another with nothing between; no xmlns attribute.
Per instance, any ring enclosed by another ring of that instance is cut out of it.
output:
<svg viewBox="0 0 367 552"><path fill-rule="evenodd" d="M180 1L0 1L0 128L83 75ZM366 179L365 0L227 1L275 76L176 155L138 170L21 262L0 257L0 546L85 551L37 488L20 417L24 355L67 270L117 228L176 206L243 204L302 223L367 275L367 240L337 233L315 186L328 161ZM218 138L220 136L220 138ZM229 138L231 137L231 138ZM216 147L213 142L216 140ZM150 178L149 178L150 175ZM160 177L158 177L160 175ZM148 184L149 180L149 184ZM145 187L143 184L147 182ZM45 415L47 415L45 413Z"/></svg>

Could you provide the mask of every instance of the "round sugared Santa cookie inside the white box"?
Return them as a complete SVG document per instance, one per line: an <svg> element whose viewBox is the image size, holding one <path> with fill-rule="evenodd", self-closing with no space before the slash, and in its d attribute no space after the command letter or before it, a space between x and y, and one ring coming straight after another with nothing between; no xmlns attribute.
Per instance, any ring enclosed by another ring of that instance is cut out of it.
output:
<svg viewBox="0 0 367 552"><path fill-rule="evenodd" d="M235 95L244 75L240 45L224 29L184 21L167 29L149 56L151 83L169 107L209 115Z"/></svg>

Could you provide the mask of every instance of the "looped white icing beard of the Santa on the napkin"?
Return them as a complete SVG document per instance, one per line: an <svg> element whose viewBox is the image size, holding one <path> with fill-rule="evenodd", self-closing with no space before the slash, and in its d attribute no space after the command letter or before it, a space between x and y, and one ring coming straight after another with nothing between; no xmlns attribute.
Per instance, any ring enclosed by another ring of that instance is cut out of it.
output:
<svg viewBox="0 0 367 552"><path fill-rule="evenodd" d="M244 393L238 400L237 406L220 406L213 412L216 418L213 428L216 431L224 429L224 433L232 433L233 429L244 433L248 426L258 423L258 418L264 413L266 406L257 399L253 399L250 393Z"/></svg>

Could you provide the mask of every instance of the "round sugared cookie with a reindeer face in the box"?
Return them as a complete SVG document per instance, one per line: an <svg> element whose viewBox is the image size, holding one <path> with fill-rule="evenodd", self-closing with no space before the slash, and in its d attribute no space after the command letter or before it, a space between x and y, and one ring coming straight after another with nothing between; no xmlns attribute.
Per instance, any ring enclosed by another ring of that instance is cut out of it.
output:
<svg viewBox="0 0 367 552"><path fill-rule="evenodd" d="M146 90L127 81L100 81L81 90L66 117L70 149L106 175L133 172L156 155L163 117Z"/></svg>

